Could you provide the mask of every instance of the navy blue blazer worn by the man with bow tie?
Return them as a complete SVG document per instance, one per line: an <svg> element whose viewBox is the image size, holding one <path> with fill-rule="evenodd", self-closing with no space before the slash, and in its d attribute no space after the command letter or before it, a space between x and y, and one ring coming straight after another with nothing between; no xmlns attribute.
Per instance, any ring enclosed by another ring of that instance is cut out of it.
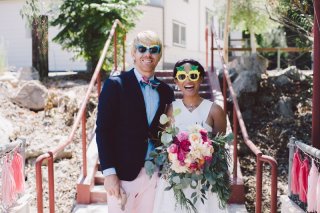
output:
<svg viewBox="0 0 320 213"><path fill-rule="evenodd" d="M102 171L116 169L120 180L134 180L147 153L147 139L157 138L160 115L174 100L173 90L160 81L159 108L148 125L145 103L133 69L108 78L99 97L96 141ZM157 144L155 144L157 145Z"/></svg>

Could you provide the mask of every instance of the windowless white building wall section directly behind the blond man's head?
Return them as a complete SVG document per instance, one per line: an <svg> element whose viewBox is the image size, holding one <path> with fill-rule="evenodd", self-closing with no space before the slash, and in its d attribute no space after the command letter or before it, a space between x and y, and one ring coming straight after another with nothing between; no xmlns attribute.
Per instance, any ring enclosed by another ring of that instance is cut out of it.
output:
<svg viewBox="0 0 320 213"><path fill-rule="evenodd" d="M133 67L133 61L131 57L131 44L135 35L144 30L152 30L156 32L161 41L163 41L163 8L162 7L154 7L154 6L140 6L139 9L143 11L143 15L136 22L136 26L133 30L131 30L126 39L127 47L126 47L126 65L127 70ZM163 54L164 55L164 54ZM163 57L160 60L157 69L163 68Z"/></svg>

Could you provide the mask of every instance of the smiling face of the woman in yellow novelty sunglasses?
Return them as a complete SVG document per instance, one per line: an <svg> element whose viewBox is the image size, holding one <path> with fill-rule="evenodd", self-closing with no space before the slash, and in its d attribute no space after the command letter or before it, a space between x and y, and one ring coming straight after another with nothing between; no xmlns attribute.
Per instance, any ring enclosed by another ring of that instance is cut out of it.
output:
<svg viewBox="0 0 320 213"><path fill-rule="evenodd" d="M195 72L191 69L191 64L185 63L181 65L184 67L184 71L187 75L193 75ZM179 73L179 71L178 71ZM202 77L199 77L196 81L190 80L189 77L186 77L184 81L179 81L177 78L174 79L175 83L178 85L179 89L183 93L183 96L196 96L199 95L200 84L202 82Z"/></svg>

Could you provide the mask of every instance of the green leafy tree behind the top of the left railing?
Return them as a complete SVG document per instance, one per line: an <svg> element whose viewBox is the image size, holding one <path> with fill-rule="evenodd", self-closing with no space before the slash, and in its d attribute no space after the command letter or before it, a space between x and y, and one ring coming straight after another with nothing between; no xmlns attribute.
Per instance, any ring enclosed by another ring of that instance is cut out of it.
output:
<svg viewBox="0 0 320 213"><path fill-rule="evenodd" d="M59 7L58 16L51 22L53 26L61 28L54 41L60 43L63 48L75 52L76 57L84 58L95 67L114 20L119 19L125 29L130 30L141 14L136 6L144 2L144 0L64 0ZM118 38L122 39L124 30L117 28L117 33Z"/></svg>

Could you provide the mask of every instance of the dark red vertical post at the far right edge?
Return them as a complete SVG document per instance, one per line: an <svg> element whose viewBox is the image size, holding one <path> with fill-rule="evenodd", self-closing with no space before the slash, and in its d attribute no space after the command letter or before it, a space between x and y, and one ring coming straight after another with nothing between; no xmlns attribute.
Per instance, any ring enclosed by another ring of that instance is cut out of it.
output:
<svg viewBox="0 0 320 213"><path fill-rule="evenodd" d="M320 2L314 1L313 44L313 95L312 95L312 146L320 149Z"/></svg>

